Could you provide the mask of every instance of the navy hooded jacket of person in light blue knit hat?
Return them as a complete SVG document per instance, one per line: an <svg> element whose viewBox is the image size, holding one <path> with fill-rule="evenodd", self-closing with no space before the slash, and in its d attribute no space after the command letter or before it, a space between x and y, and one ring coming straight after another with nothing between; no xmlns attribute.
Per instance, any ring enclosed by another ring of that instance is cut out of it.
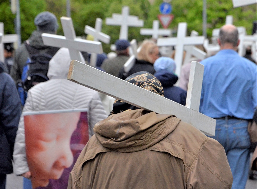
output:
<svg viewBox="0 0 257 189"><path fill-rule="evenodd" d="M163 86L164 97L184 106L186 105L187 92L180 87L173 86L177 82L178 76L164 70L156 72L154 76L159 79Z"/></svg>

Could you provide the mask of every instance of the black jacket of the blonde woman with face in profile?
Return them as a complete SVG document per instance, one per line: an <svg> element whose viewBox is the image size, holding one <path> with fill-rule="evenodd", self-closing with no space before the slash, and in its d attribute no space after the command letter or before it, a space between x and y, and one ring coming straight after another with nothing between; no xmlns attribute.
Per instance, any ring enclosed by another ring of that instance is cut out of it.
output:
<svg viewBox="0 0 257 189"><path fill-rule="evenodd" d="M155 70L153 68L153 64L145 60L135 60L135 65L131 68L128 73L125 73L124 68L122 67L119 73L118 78L126 79L128 76L137 73L139 71L147 71L150 74L154 74Z"/></svg>

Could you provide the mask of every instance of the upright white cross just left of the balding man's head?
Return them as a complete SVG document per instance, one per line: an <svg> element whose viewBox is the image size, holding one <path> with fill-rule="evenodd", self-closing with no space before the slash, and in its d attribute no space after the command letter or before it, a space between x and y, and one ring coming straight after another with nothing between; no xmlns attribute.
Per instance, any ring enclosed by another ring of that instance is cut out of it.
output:
<svg viewBox="0 0 257 189"><path fill-rule="evenodd" d="M181 22L178 24L177 37L158 38L158 46L176 46L175 62L176 74L179 77L181 72L184 45L200 45L204 43L204 36L186 37L187 23Z"/></svg>

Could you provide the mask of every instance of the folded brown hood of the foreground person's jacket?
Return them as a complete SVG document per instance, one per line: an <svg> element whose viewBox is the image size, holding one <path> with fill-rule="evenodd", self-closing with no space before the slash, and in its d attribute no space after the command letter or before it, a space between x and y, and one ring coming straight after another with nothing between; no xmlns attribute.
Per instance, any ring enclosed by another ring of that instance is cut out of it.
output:
<svg viewBox="0 0 257 189"><path fill-rule="evenodd" d="M106 148L135 152L155 145L170 134L181 119L138 109L125 111L99 121L94 132Z"/></svg>

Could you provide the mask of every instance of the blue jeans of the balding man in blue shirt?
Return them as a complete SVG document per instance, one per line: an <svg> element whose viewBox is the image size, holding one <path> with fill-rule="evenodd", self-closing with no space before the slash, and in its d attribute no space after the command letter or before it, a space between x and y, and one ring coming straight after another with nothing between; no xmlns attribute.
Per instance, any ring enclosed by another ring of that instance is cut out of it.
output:
<svg viewBox="0 0 257 189"><path fill-rule="evenodd" d="M233 175L232 189L244 189L249 173L250 136L247 120L216 119L215 136L224 147Z"/></svg>

